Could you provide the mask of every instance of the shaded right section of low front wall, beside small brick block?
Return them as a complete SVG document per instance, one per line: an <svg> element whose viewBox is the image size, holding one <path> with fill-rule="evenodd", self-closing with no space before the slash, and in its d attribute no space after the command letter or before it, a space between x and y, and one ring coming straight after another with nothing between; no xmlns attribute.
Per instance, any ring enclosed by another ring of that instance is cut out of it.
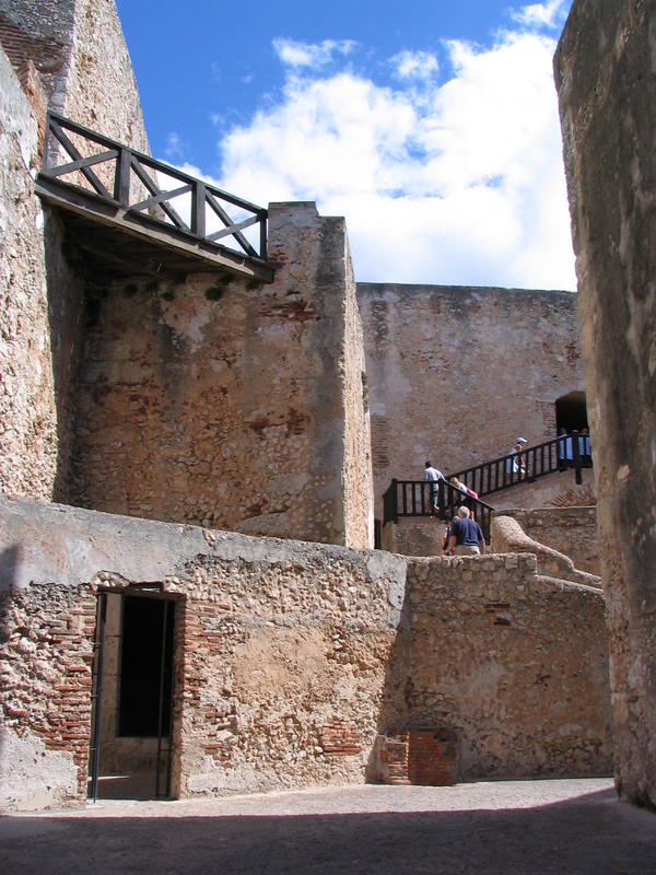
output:
<svg viewBox="0 0 656 875"><path fill-rule="evenodd" d="M408 721L455 733L460 780L612 768L604 597L535 572L523 555L409 564Z"/></svg>

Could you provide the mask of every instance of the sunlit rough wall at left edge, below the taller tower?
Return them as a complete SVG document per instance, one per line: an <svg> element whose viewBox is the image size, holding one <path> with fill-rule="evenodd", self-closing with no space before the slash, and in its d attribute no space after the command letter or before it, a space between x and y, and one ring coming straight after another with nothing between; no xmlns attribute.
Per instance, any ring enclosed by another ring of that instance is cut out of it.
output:
<svg viewBox="0 0 656 875"><path fill-rule="evenodd" d="M38 124L0 49L0 489L46 498L57 470Z"/></svg>

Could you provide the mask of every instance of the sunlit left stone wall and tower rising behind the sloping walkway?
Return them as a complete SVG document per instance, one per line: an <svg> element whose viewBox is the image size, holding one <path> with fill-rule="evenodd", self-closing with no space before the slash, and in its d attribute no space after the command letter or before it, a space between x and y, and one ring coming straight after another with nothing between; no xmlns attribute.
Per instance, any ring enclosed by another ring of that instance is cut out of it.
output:
<svg viewBox="0 0 656 875"><path fill-rule="evenodd" d="M46 94L137 149L148 140L113 0L0 0L0 43L20 75L0 54L0 489L67 498L83 289L33 189Z"/></svg>

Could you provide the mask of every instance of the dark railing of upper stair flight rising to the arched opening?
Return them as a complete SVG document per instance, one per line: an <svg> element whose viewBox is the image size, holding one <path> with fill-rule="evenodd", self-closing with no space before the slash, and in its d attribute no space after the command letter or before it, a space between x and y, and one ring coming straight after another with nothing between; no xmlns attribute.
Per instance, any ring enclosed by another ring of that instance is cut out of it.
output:
<svg viewBox="0 0 656 875"><path fill-rule="evenodd" d="M502 489L508 489L522 482L530 483L548 474L570 468L574 468L576 482L582 483L582 469L591 468L591 466L589 436L573 431L528 446L520 453L513 452L507 456L500 456L480 465L454 471L448 475L447 479L457 477L479 495L490 495Z"/></svg>

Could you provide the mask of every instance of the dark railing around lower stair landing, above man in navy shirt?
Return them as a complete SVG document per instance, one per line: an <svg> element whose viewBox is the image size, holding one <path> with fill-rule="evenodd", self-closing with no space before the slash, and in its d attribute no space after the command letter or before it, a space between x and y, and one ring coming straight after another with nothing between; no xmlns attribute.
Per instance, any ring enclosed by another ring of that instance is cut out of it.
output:
<svg viewBox="0 0 656 875"><path fill-rule="evenodd" d="M480 499L466 495L446 480L393 480L383 494L383 524L397 523L403 516L450 518L465 504L490 538L490 521L494 508Z"/></svg>

